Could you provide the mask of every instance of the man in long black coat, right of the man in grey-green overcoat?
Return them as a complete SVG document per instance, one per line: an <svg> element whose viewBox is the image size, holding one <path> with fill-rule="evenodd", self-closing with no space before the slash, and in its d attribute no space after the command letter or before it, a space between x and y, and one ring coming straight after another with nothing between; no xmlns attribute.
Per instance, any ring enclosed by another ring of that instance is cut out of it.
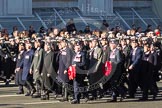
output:
<svg viewBox="0 0 162 108"><path fill-rule="evenodd" d="M54 92L53 91L53 86L54 86L54 82L56 79L56 71L54 69L54 53L52 52L52 44L51 43L46 43L44 46L44 50L45 50L45 55L44 55L44 59L43 59L43 67L42 67L42 82L43 82L43 86L42 86L42 100L46 100L49 99L49 93L50 92Z"/></svg>

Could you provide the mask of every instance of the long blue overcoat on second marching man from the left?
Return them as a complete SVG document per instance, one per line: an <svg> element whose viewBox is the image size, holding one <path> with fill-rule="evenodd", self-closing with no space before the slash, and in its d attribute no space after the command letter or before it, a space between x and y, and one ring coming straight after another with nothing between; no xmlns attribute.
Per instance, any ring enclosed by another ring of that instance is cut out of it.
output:
<svg viewBox="0 0 162 108"><path fill-rule="evenodd" d="M24 53L24 60L21 65L21 68L23 69L22 80L24 81L27 80L30 66L32 64L33 56L34 56L34 51L32 49Z"/></svg>

